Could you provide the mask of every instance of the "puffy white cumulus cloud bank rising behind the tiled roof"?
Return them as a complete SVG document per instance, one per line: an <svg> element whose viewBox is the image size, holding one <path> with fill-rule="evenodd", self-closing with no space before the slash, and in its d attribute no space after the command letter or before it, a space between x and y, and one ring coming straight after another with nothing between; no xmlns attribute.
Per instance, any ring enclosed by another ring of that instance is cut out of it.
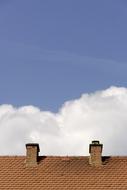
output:
<svg viewBox="0 0 127 190"><path fill-rule="evenodd" d="M127 88L110 87L63 104L58 113L34 106L0 106L0 154L25 154L37 142L41 155L88 155L92 140L104 155L127 155Z"/></svg>

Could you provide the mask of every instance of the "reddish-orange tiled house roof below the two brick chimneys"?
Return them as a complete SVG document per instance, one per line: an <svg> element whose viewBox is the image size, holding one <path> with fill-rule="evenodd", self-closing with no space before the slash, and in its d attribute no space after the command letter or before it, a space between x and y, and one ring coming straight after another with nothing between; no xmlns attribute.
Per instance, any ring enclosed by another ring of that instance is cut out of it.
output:
<svg viewBox="0 0 127 190"><path fill-rule="evenodd" d="M127 189L127 157L102 157L99 167L80 156L39 156L34 167L26 167L25 160L25 156L0 157L0 189Z"/></svg>

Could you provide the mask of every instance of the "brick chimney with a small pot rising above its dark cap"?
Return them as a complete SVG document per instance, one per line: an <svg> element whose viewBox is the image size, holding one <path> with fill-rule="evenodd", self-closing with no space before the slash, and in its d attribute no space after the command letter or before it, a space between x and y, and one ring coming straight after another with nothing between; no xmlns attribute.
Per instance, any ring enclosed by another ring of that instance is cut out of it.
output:
<svg viewBox="0 0 127 190"><path fill-rule="evenodd" d="M92 141L92 144L89 145L89 163L92 166L102 165L102 148L103 145L99 141Z"/></svg>

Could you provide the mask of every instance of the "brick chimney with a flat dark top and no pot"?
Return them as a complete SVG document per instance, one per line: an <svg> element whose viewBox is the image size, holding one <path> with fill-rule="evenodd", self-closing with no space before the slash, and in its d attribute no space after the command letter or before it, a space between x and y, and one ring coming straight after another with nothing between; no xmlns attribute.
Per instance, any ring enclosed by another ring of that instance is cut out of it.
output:
<svg viewBox="0 0 127 190"><path fill-rule="evenodd" d="M37 166L38 153L40 152L39 144L26 144L26 166Z"/></svg>

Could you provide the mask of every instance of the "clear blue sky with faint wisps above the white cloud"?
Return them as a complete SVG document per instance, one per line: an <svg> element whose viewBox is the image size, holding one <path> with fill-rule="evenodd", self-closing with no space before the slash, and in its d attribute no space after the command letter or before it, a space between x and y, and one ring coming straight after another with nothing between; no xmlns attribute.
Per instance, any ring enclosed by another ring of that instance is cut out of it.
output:
<svg viewBox="0 0 127 190"><path fill-rule="evenodd" d="M1 0L0 104L57 111L127 81L126 0Z"/></svg>

